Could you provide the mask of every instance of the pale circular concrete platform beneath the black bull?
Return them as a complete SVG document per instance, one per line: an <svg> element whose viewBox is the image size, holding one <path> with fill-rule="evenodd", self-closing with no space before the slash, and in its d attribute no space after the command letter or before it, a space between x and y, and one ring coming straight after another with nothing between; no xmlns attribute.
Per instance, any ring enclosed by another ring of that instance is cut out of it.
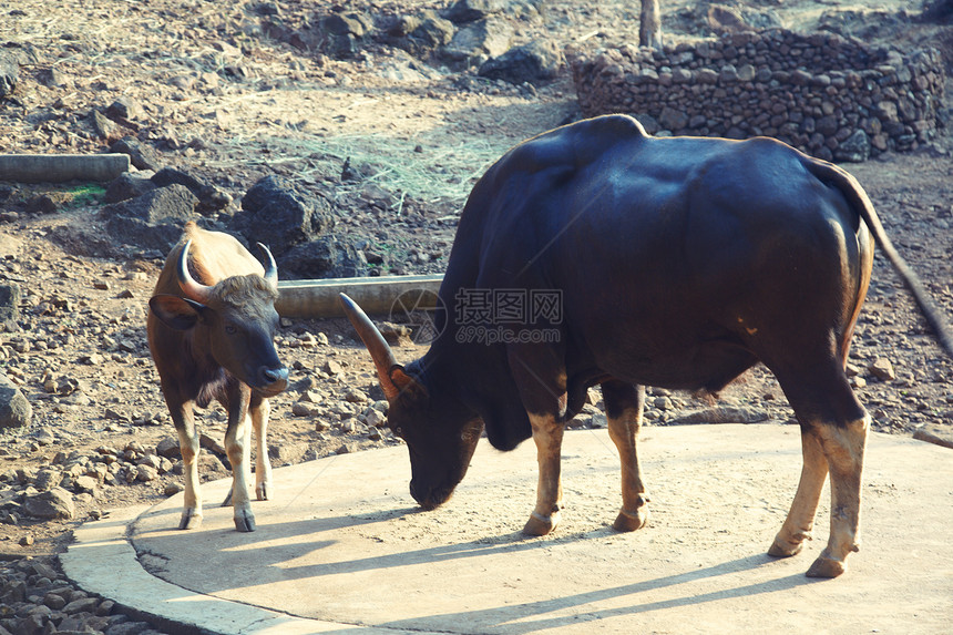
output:
<svg viewBox="0 0 953 635"><path fill-rule="evenodd" d="M519 532L535 500L533 444L481 441L435 511L408 493L406 448L337 455L276 470L254 533L208 503L202 528L176 530L178 494L86 523L63 567L89 591L214 633L949 632L951 450L871 436L862 550L832 581L803 575L827 541L827 490L817 540L791 559L765 553L797 487L797 427L646 428L641 458L652 521L629 534L609 528L615 448L578 431L563 444L566 506L549 536ZM204 485L205 500L228 487Z"/></svg>

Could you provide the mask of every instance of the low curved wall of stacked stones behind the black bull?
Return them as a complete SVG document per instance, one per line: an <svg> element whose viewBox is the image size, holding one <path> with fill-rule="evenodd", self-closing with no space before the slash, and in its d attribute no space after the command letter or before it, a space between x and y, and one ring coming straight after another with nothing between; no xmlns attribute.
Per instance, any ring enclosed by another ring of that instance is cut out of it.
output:
<svg viewBox="0 0 953 635"><path fill-rule="evenodd" d="M655 51L571 51L585 116L635 115L652 134L773 136L828 161L910 151L936 132L939 51L906 55L833 33L773 29Z"/></svg>

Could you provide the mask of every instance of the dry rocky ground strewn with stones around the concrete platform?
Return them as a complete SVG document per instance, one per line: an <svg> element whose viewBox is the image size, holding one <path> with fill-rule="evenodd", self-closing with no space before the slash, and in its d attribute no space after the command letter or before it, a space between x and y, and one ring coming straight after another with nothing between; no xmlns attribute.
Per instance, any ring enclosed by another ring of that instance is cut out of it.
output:
<svg viewBox="0 0 953 635"><path fill-rule="evenodd" d="M225 195L205 212L212 225L227 225L259 178L280 176L329 203L330 233L361 253L369 275L442 270L473 180L512 144L578 114L565 69L511 83L478 74L488 54L461 61L401 43L413 32L408 17L426 21L421 11L444 2L344 2L324 13L291 0L50 4L22 0L0 16L0 51L19 60L18 84L0 101L0 152L93 153L134 140L155 162L139 174L175 167ZM636 39L632 3L551 1L540 11L543 4L513 2L510 45ZM663 2L672 37L710 33L696 4ZM792 28L826 20L903 47L953 39L949 27L912 20L905 6L739 7ZM346 12L370 17L369 34L337 42L345 53L315 40L319 18ZM116 103L136 107L116 111ZM848 166L947 316L949 134L915 153ZM104 187L89 184L0 184L0 284L21 290L18 315L0 332L0 363L32 409L28 426L0 432L0 635L153 628L85 597L55 559L78 523L181 489L145 342L161 253L104 234ZM874 280L851 360L874 429L949 437L953 365L880 256ZM274 465L399 442L385 424L372 366L344 321L283 320L277 344L293 385L274 400ZM409 360L422 351L404 342L397 355ZM604 424L597 393L592 401L574 426ZM650 426L791 419L761 368L717 404L652 390L646 414ZM217 445L224 424L221 409L202 412L204 479L228 474Z"/></svg>

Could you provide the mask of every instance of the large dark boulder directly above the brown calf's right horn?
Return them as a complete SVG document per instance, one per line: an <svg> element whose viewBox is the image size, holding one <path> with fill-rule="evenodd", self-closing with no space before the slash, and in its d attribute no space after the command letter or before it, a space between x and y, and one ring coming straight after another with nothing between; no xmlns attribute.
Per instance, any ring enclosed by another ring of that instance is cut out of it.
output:
<svg viewBox="0 0 953 635"><path fill-rule="evenodd" d="M232 228L250 243L267 245L276 256L331 229L335 217L325 198L304 192L279 176L258 181L242 198Z"/></svg>

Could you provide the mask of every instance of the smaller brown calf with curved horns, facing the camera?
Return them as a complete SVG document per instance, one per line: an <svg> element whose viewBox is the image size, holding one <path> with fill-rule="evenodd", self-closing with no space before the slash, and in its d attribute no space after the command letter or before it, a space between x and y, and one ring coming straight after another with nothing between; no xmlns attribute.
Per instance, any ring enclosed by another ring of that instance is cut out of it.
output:
<svg viewBox="0 0 953 635"><path fill-rule="evenodd" d="M271 488L265 442L268 398L285 389L288 369L278 360L274 344L278 270L268 248L258 246L267 269L232 236L187 223L148 301L148 347L185 464L180 529L202 522L195 404L205 408L215 399L228 412L225 450L232 463L229 499L238 531L255 531L248 494L249 418L257 440L258 500L266 500Z"/></svg>

